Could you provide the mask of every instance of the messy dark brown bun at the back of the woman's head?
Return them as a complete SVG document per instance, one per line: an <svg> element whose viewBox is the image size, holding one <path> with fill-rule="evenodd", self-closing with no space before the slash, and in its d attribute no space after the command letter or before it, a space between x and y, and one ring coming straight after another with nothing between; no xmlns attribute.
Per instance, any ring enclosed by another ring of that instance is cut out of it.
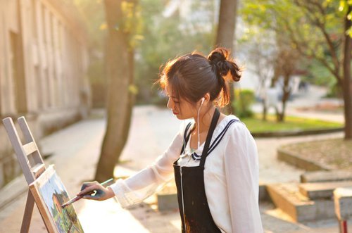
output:
<svg viewBox="0 0 352 233"><path fill-rule="evenodd" d="M230 58L230 52L222 47L218 47L208 55L210 65L214 67L215 73L225 80L239 81L241 70L238 65ZM230 72L230 74L229 74Z"/></svg>

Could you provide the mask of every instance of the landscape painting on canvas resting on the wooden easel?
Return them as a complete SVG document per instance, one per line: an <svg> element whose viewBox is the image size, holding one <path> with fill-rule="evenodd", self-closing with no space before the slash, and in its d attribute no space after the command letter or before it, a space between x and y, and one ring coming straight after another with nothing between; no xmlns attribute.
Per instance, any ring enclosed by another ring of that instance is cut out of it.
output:
<svg viewBox="0 0 352 233"><path fill-rule="evenodd" d="M63 203L70 200L70 197L56 174L54 165L50 165L37 180L30 184L30 191L48 232L84 232L73 205L61 208Z"/></svg>

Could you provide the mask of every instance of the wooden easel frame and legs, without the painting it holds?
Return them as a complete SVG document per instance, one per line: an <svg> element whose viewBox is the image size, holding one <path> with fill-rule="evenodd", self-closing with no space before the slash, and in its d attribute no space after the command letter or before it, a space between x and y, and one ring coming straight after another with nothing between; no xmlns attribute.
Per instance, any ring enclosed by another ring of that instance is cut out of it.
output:
<svg viewBox="0 0 352 233"><path fill-rule="evenodd" d="M23 175L25 175L25 180L29 185L34 182L34 180L36 180L39 175L41 175L42 172L46 170L46 168L42 156L40 155L37 144L35 143L34 138L32 136L32 132L30 132L30 128L28 127L25 118L20 117L17 119L17 121L18 125L20 125L20 130L22 131L24 136L24 144L18 136L18 132L15 129L15 125L13 124L12 118L5 118L3 120L3 123L8 134L8 138L10 139L15 154L17 156L18 163L20 163L20 167L23 170ZM30 229L30 221L32 219L33 208L34 197L28 189L25 213L23 215L23 221L20 229L21 233L27 233ZM46 229L48 229L45 221L44 224Z"/></svg>

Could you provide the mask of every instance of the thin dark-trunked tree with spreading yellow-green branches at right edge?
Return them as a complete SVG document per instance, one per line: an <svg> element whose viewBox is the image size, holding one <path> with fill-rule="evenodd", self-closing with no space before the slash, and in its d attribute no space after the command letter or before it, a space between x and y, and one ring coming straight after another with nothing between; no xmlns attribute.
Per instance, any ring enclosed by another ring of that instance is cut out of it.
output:
<svg viewBox="0 0 352 233"><path fill-rule="evenodd" d="M339 11L337 1L294 0L294 4L304 13L306 22L319 32L322 44L311 46L307 37L294 32L285 20L291 38L298 51L320 61L334 75L344 96L345 139L352 138L352 88L351 88L351 37L347 33L351 27L351 5L345 3L344 11ZM344 27L343 27L344 25ZM315 52L316 48L322 51Z"/></svg>

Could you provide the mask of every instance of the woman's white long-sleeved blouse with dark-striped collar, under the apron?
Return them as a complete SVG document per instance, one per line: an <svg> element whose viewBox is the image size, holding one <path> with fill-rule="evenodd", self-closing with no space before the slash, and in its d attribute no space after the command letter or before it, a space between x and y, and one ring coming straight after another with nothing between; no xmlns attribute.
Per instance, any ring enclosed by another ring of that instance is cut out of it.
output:
<svg viewBox="0 0 352 233"><path fill-rule="evenodd" d="M228 115L218 123L210 147L233 119L238 120L234 115ZM143 201L172 179L172 164L180 158L183 134L184 129L176 135L168 150L148 168L111 185L122 207ZM198 166L200 160L197 156L191 156L189 141L178 165ZM203 145L195 152L201 155L202 150ZM246 125L233 122L220 143L209 153L204 165L208 206L221 232L263 232L258 206L258 172L256 143Z"/></svg>

